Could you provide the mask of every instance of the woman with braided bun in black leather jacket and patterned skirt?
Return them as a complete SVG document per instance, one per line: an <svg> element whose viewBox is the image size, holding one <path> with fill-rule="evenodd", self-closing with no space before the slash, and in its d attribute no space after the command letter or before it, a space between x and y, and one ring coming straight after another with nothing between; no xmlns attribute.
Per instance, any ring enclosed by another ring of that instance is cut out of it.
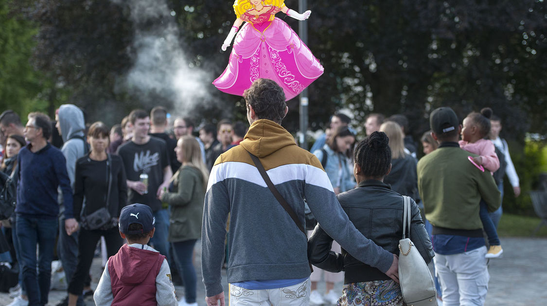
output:
<svg viewBox="0 0 547 306"><path fill-rule="evenodd" d="M391 170L391 150L383 132L374 132L357 145L353 173L356 189L340 193L338 201L353 224L363 235L383 249L399 254L403 237L403 197L383 183ZM420 210L411 201L411 236L424 261L434 254L423 226ZM345 250L330 251L333 239L317 225L309 240L310 262L330 272L346 272L344 289L338 305L371 304L405 305L400 286L380 270L362 263Z"/></svg>

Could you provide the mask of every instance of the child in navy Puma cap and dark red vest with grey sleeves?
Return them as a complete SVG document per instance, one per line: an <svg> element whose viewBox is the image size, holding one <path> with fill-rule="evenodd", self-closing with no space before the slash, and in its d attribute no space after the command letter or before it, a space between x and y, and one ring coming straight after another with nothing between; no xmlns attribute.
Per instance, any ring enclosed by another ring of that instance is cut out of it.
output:
<svg viewBox="0 0 547 306"><path fill-rule="evenodd" d="M132 204L121 210L120 235L127 244L108 259L93 295L95 304L178 304L165 256L147 245L154 236L154 223L147 205Z"/></svg>

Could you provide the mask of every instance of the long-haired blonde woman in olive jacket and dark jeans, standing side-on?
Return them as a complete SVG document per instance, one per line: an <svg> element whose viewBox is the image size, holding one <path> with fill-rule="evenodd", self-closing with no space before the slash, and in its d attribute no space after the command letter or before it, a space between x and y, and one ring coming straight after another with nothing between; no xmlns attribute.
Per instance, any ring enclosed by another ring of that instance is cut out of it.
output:
<svg viewBox="0 0 547 306"><path fill-rule="evenodd" d="M171 178L169 190L160 191L159 198L170 207L169 241L185 293L185 300L179 305L197 305L197 276L192 255L196 240L201 238L201 217L209 171L201 159L200 145L195 137L181 137L174 150L182 166Z"/></svg>

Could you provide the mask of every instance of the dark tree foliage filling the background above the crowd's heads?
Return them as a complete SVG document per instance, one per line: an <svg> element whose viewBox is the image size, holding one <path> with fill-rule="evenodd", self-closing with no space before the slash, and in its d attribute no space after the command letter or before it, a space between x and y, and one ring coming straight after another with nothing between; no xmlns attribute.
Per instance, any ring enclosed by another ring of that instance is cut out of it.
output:
<svg viewBox="0 0 547 306"><path fill-rule="evenodd" d="M8 25L10 17L0 20L0 37L9 42L21 37L17 43L22 44L14 49L19 51L9 55L11 66L5 71L11 73L4 73L5 68L0 66L0 78L8 74L17 79L2 81L0 93L5 91L4 84L18 84L10 89L9 96L2 96L2 101L37 99L35 104L25 105L40 107L48 101L48 109L70 102L84 107L90 120L107 123L119 121L135 107L177 107L181 101L170 92L153 90L145 94L124 81L142 46L135 38L155 32L159 38L165 33L162 30L174 25L177 31L172 33L187 57L187 68L199 68L210 75L201 86L205 91L201 101L188 111L209 121L242 117L241 97L226 95L211 85L228 63L231 49L220 51L220 45L235 20L231 1L0 3L2 14L6 14L6 3L12 3L18 14L27 17L22 33ZM299 10L295 0L286 4ZM443 105L454 108L462 118L469 111L492 107L504 125L511 126L509 139L523 139L527 131L546 130L544 1L316 0L308 5L312 15L306 21L307 45L325 68L324 75L309 87L312 129L345 107L354 113L354 122L363 122L371 111L403 113L409 117L412 136L418 139L429 129L430 110ZM139 19L135 8L164 11ZM298 21L282 13L277 17L298 31ZM31 56L42 76L33 77L36 72L26 68L15 73L14 67L31 67ZM36 84L36 80L48 83ZM294 132L298 130L298 99L288 105L284 125ZM522 120L524 117L528 120Z"/></svg>

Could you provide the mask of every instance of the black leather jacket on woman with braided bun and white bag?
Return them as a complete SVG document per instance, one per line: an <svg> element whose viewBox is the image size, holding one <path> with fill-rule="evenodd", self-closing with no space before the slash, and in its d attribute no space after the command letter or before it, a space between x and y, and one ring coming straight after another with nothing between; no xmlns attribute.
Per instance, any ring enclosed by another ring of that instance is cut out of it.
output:
<svg viewBox="0 0 547 306"><path fill-rule="evenodd" d="M366 180L356 189L337 196L350 221L366 238L381 248L399 255L399 240L403 237L403 197L378 180ZM433 246L423 225L420 210L411 201L410 239L426 263L433 256ZM345 284L362 281L388 280L379 269L362 263L344 249L342 254L330 251L333 239L317 225L308 241L310 262L329 272L344 270Z"/></svg>

